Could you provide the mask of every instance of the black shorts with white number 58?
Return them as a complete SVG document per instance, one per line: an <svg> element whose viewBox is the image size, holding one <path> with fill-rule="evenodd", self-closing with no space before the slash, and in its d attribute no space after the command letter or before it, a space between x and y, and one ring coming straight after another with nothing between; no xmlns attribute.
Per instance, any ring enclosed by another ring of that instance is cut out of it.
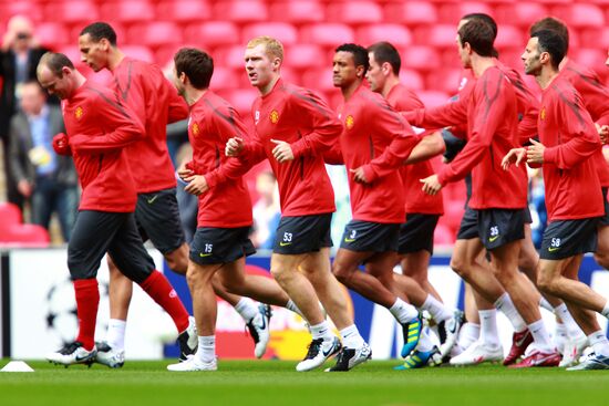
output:
<svg viewBox="0 0 609 406"><path fill-rule="evenodd" d="M551 221L541 241L539 258L560 260L597 249L599 218Z"/></svg>

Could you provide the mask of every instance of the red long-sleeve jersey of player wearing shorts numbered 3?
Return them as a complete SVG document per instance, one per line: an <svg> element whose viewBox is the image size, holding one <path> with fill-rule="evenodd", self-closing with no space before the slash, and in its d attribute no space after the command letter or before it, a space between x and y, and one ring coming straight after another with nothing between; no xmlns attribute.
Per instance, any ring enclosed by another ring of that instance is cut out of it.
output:
<svg viewBox="0 0 609 406"><path fill-rule="evenodd" d="M339 118L344 123L340 149L347 170L363 167L368 180L358 184L349 173L353 219L404 222L405 195L399 169L421 138L380 94L363 85L339 107Z"/></svg>

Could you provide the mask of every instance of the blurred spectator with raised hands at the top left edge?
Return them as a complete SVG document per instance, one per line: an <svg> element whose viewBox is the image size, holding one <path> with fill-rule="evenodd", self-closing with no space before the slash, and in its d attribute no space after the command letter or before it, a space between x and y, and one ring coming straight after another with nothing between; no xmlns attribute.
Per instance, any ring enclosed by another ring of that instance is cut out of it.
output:
<svg viewBox="0 0 609 406"><path fill-rule="evenodd" d="M34 29L30 19L24 15L14 15L9 20L7 33L2 39L0 49L0 76L2 76L0 137L4 155L10 150L8 129L21 98L22 85L28 81L35 80L38 62L48 51L38 45L33 34ZM54 100L56 101L56 98ZM7 174L7 198L23 210L24 198L17 189L17 181L7 158L4 158L4 173Z"/></svg>

